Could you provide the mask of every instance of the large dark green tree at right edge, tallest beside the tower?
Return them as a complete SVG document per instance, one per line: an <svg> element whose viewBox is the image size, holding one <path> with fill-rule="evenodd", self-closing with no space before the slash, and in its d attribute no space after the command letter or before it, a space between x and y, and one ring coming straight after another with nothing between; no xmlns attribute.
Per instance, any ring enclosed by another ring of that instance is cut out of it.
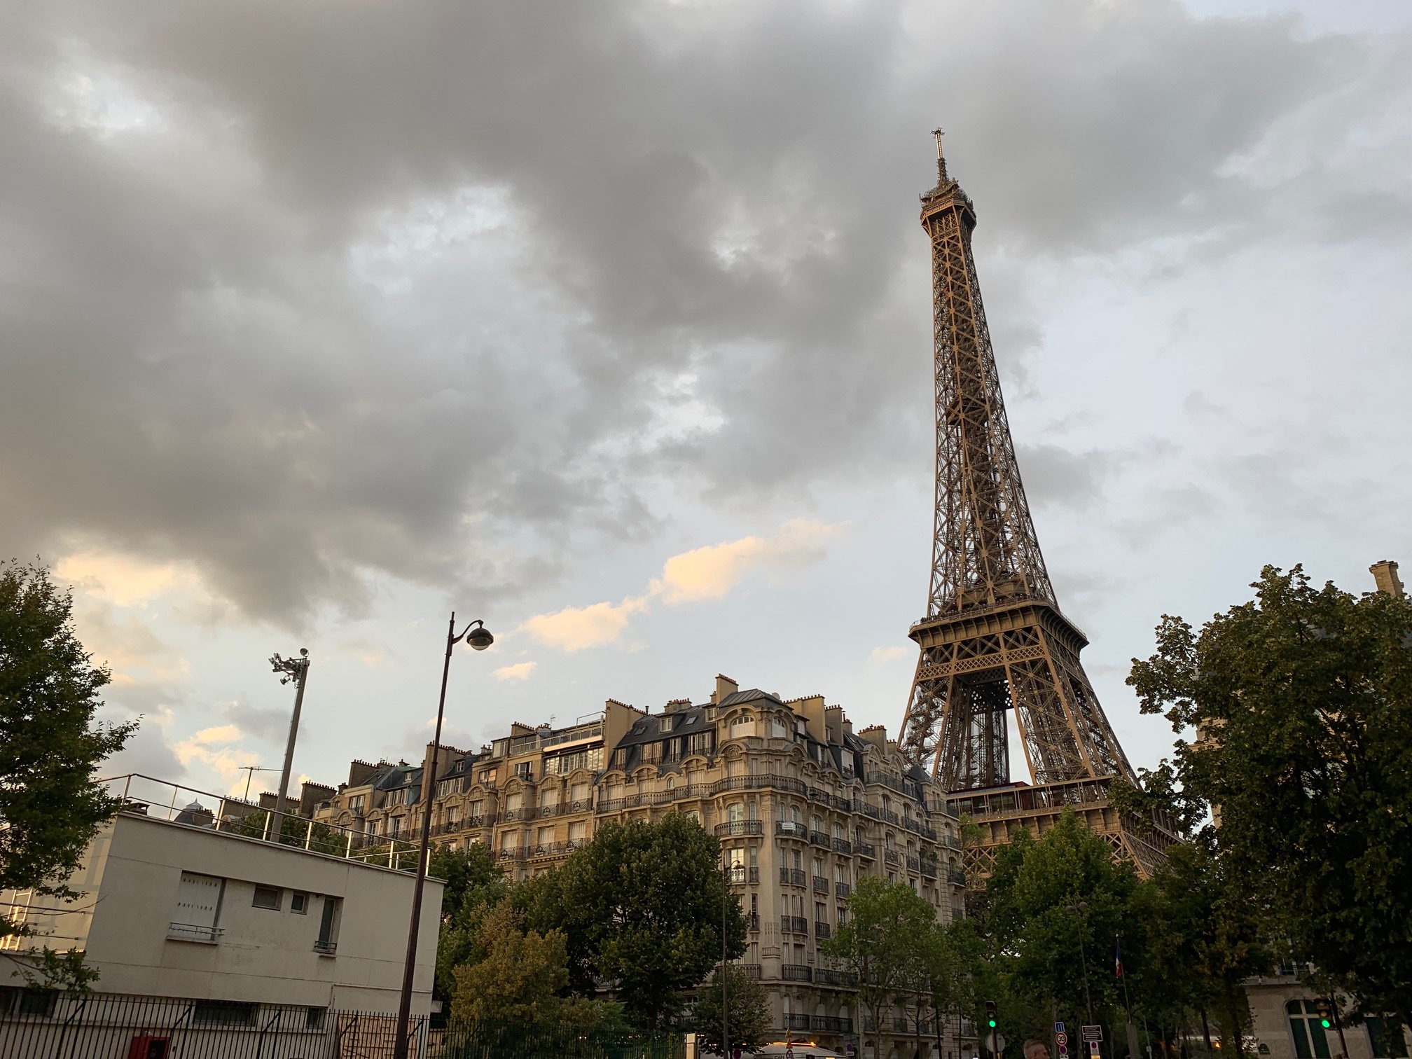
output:
<svg viewBox="0 0 1412 1059"><path fill-rule="evenodd" d="M1182 738L1223 871L1367 1011L1412 1022L1412 603L1267 566L1200 633L1163 617L1128 678Z"/></svg>

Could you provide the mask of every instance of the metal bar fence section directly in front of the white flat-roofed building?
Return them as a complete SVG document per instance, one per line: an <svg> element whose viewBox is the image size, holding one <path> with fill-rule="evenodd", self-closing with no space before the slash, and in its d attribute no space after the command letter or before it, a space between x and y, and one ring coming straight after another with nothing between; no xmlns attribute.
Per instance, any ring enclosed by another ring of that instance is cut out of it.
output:
<svg viewBox="0 0 1412 1059"><path fill-rule="evenodd" d="M4 1059L391 1059L395 1035L397 1018L381 1012L0 990ZM411 1045L435 1059L425 1017Z"/></svg>

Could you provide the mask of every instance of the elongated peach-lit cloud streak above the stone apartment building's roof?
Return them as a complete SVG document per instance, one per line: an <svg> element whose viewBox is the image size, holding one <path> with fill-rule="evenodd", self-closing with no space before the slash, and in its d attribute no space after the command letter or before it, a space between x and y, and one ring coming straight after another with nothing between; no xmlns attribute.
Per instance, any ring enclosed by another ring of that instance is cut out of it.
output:
<svg viewBox="0 0 1412 1059"><path fill-rule="evenodd" d="M842 522L792 518L774 537L743 537L738 541L695 548L662 563L662 575L654 578L641 596L628 596L621 603L604 602L535 614L520 628L561 651L616 644L627 630L628 618L648 610L654 602L678 606L724 599L751 569L816 563L825 555L825 541L842 528Z"/></svg>

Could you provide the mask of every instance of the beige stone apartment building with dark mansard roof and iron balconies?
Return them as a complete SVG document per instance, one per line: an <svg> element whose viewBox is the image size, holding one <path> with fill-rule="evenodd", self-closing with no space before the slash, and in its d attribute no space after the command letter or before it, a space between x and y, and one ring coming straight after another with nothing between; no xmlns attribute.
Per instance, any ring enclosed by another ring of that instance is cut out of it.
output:
<svg viewBox="0 0 1412 1059"><path fill-rule="evenodd" d="M424 762L425 765L425 762ZM316 818L408 839L424 765L354 762ZM531 729L476 753L443 748L432 834L484 843L515 878L549 870L604 820L683 812L714 834L750 932L740 960L765 984L779 1039L912 1056L915 1027L881 1048L849 976L818 952L863 874L909 884L943 919L962 915L957 822L945 792L881 727L853 731L822 696L782 700L717 676L700 705L657 713L609 700L583 724ZM928 1036L935 1031L926 1028ZM935 1043L923 1041L923 1055ZM955 1031L942 1052L959 1055Z"/></svg>

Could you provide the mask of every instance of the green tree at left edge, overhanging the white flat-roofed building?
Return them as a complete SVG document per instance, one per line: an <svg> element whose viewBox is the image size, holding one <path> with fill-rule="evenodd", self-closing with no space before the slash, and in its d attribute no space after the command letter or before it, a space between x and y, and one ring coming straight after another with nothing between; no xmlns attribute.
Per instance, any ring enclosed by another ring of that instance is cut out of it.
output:
<svg viewBox="0 0 1412 1059"><path fill-rule="evenodd" d="M0 890L73 901L66 885L120 808L93 781L136 723L93 716L110 679L73 633L73 599L40 565L0 563ZM24 933L0 915L0 936Z"/></svg>

